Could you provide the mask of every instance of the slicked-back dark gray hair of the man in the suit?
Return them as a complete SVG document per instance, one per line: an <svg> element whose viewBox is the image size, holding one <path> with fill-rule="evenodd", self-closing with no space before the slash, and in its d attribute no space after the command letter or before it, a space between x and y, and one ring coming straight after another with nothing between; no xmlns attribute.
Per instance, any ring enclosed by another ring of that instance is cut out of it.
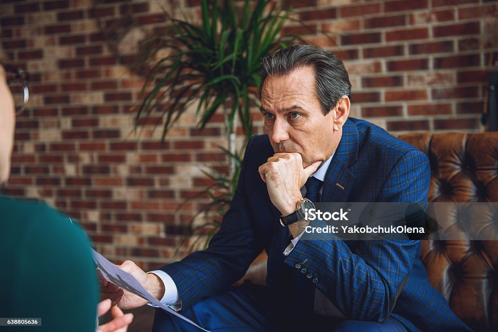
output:
<svg viewBox="0 0 498 332"><path fill-rule="evenodd" d="M324 115L333 109L342 96L351 95L351 82L342 60L334 53L316 46L293 45L276 50L263 58L261 83L268 76L286 76L292 71L311 67L315 73L315 91Z"/></svg>

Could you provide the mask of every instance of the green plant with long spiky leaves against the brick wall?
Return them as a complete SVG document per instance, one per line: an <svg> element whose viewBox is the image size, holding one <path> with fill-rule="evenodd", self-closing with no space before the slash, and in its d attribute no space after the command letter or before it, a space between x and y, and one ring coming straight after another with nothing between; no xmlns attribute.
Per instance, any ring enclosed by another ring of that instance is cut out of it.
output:
<svg viewBox="0 0 498 332"><path fill-rule="evenodd" d="M204 192L211 204L197 214L204 214L209 221L196 229L208 228L207 245L237 186L242 158L242 151L235 148L238 123L246 140L252 135L250 108L256 105L261 58L302 39L281 34L293 10L292 6L284 8L283 1L201 0L200 5L198 23L186 15L184 19L173 18L164 10L169 26L163 34L142 44L140 61L146 59L150 70L136 105L136 123L161 112L164 140L168 129L196 102L197 125L201 128L216 112L223 112L229 146L223 151L231 167L229 174L214 168L205 173L215 184ZM167 55L157 59L164 53Z"/></svg>

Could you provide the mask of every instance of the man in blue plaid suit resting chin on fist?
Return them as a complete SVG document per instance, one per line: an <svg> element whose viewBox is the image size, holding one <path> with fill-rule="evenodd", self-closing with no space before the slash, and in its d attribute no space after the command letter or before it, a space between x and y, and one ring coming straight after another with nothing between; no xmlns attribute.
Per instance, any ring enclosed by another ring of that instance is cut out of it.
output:
<svg viewBox="0 0 498 332"><path fill-rule="evenodd" d="M209 248L148 274L130 261L121 267L208 330L468 331L429 284L420 241L301 239L315 225L303 211L316 202L426 202L429 162L382 128L349 118L351 83L335 54L296 45L262 67L266 134L249 140ZM267 286L231 288L262 249ZM121 307L145 304L111 287L103 291ZM156 312L154 331L191 329Z"/></svg>

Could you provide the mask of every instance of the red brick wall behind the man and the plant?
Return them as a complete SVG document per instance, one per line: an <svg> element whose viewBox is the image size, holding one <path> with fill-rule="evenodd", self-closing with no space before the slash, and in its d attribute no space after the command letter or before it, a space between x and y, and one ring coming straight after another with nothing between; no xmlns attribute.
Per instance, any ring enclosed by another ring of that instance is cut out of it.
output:
<svg viewBox="0 0 498 332"><path fill-rule="evenodd" d="M107 2L99 12L111 21L129 1ZM164 145L154 121L133 131L130 107L141 79L111 52L93 3L1 1L3 50L32 78L3 192L46 200L82 221L105 255L153 268L177 258L178 234L205 203L194 200L177 210L209 183L200 167L226 166L216 148L226 145L223 120L201 131L188 113ZM155 1L132 3L140 25L135 32L160 29ZM301 26L286 29L345 60L352 116L391 132L481 130L490 54L496 61L495 1L306 0L297 7L295 17L328 32L334 43Z"/></svg>

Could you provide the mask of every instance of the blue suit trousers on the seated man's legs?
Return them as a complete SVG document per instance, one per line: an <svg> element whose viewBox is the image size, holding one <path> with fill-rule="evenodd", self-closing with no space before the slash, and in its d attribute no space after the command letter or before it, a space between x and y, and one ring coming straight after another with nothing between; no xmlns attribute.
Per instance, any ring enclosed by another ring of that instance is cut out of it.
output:
<svg viewBox="0 0 498 332"><path fill-rule="evenodd" d="M265 287L244 284L205 298L180 312L197 325L216 332L406 332L396 319L389 317L383 323L348 321L320 315L286 315L286 310L275 311L264 301ZM156 309L152 332L200 332L189 323Z"/></svg>

